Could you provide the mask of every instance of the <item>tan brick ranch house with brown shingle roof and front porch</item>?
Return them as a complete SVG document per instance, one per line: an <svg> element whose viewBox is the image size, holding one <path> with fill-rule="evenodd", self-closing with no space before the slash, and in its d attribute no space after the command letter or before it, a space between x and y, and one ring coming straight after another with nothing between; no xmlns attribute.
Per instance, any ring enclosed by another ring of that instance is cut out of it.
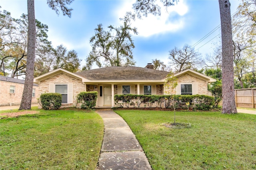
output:
<svg viewBox="0 0 256 170"><path fill-rule="evenodd" d="M116 94L164 95L164 84L169 72L142 67L105 67L71 73L56 69L34 78L38 94L61 93L62 107L72 107L76 95L82 91L98 91L96 107L114 107ZM211 77L187 69L174 75L178 78L176 94L207 95ZM40 107L40 106L39 106Z"/></svg>

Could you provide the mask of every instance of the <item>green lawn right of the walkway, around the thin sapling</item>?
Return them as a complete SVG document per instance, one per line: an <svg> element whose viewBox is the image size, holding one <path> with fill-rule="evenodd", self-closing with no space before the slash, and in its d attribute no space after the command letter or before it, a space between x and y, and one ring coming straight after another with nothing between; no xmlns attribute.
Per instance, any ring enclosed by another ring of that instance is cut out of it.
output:
<svg viewBox="0 0 256 170"><path fill-rule="evenodd" d="M256 115L116 110L128 123L154 170L256 169Z"/></svg>

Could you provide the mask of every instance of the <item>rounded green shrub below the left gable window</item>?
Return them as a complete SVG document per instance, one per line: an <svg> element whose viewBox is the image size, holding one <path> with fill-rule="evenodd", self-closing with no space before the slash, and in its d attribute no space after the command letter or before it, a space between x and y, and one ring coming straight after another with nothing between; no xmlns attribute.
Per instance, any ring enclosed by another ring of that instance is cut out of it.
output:
<svg viewBox="0 0 256 170"><path fill-rule="evenodd" d="M62 95L60 93L44 93L40 95L40 105L45 110L57 110L61 106Z"/></svg>

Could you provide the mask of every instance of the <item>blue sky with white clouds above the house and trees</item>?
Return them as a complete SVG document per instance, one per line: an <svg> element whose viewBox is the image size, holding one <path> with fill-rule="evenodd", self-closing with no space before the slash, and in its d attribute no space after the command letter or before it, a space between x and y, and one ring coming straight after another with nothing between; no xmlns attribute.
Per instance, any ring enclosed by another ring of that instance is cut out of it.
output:
<svg viewBox="0 0 256 170"><path fill-rule="evenodd" d="M107 29L109 25L119 26L119 18L126 11L132 11L134 0L74 0L71 18L59 16L48 7L46 0L35 0L36 19L48 25L48 40L52 45L63 44L68 50L74 49L82 59L82 65L90 52L90 38L98 24ZM236 12L238 0L230 0L231 14ZM27 14L26 0L0 0L1 10L11 12L12 18ZM133 50L136 66L145 67L152 59L160 59L168 65L168 51L184 44L194 45L220 24L218 0L180 0L178 4L162 8L161 16L148 15L142 20L136 18L133 26L138 28L134 35ZM213 43L219 42L220 29L195 46L205 57L212 52ZM217 38L214 38L217 36ZM214 38L212 41L210 41ZM210 41L210 42L208 42ZM206 45L204 45L208 42ZM203 45L203 46L202 46ZM202 46L202 47L201 47ZM199 48L200 47L200 48ZM199 48L199 49L198 49Z"/></svg>

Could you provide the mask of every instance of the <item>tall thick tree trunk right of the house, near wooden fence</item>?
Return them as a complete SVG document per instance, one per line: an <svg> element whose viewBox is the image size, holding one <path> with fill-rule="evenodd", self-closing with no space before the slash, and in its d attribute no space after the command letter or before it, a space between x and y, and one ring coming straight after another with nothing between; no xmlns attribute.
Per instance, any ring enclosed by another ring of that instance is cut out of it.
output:
<svg viewBox="0 0 256 170"><path fill-rule="evenodd" d="M234 93L232 26L229 0L219 0L222 34L222 113L237 113Z"/></svg>

